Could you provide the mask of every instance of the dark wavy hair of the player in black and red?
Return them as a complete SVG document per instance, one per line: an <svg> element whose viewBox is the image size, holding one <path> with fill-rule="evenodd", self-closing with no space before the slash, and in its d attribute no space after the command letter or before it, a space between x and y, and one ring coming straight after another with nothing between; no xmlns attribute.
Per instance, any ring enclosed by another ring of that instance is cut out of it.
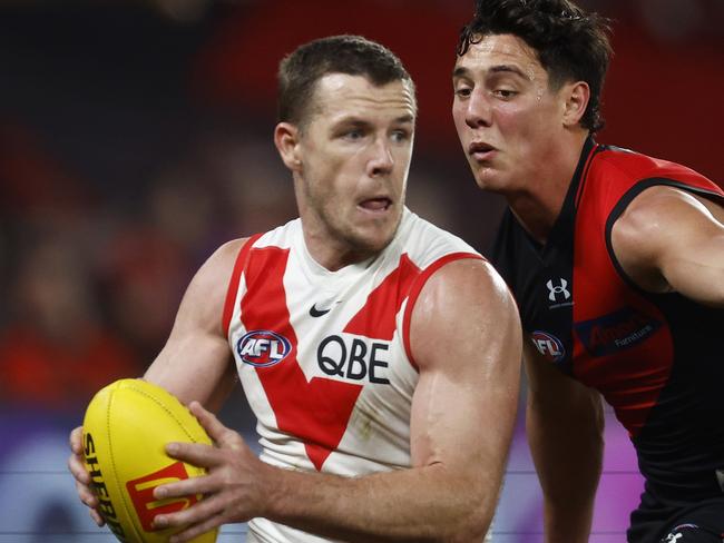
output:
<svg viewBox="0 0 724 543"><path fill-rule="evenodd" d="M552 89L586 81L590 100L580 125L591 132L604 127L600 93L613 55L610 20L569 0L477 0L472 20L460 31L457 53L463 56L486 36L506 33L536 51Z"/></svg>

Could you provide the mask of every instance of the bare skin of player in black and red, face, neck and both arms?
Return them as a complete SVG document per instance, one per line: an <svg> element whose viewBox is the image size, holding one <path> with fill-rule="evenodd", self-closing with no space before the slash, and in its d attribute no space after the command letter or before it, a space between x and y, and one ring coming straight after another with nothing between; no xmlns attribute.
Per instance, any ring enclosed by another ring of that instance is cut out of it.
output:
<svg viewBox="0 0 724 543"><path fill-rule="evenodd" d="M585 81L551 85L513 34L478 36L453 70L452 115L478 186L502 195L541 245L558 219L589 130ZM724 307L724 209L674 187L643 190L613 225L623 272L648 293ZM603 458L600 398L525 340L527 435L545 496L547 543L586 543Z"/></svg>

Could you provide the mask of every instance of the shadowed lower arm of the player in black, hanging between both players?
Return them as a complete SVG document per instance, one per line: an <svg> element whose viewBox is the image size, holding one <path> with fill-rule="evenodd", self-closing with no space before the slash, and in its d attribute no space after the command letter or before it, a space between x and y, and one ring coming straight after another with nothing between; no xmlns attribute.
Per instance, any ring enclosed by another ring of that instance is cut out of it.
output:
<svg viewBox="0 0 724 543"><path fill-rule="evenodd" d="M586 543L604 452L600 397L530 344L526 432L544 493L547 543Z"/></svg>

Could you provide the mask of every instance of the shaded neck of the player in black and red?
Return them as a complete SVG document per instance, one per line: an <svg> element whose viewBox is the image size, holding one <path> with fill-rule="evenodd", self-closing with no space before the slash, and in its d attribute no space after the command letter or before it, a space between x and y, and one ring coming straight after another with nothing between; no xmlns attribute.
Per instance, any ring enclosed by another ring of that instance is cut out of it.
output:
<svg viewBox="0 0 724 543"><path fill-rule="evenodd" d="M540 168L539 177L528 180L524 189L506 195L520 225L540 244L548 240L560 215L587 137L587 131L571 135L571 139L558 149L558 159Z"/></svg>

